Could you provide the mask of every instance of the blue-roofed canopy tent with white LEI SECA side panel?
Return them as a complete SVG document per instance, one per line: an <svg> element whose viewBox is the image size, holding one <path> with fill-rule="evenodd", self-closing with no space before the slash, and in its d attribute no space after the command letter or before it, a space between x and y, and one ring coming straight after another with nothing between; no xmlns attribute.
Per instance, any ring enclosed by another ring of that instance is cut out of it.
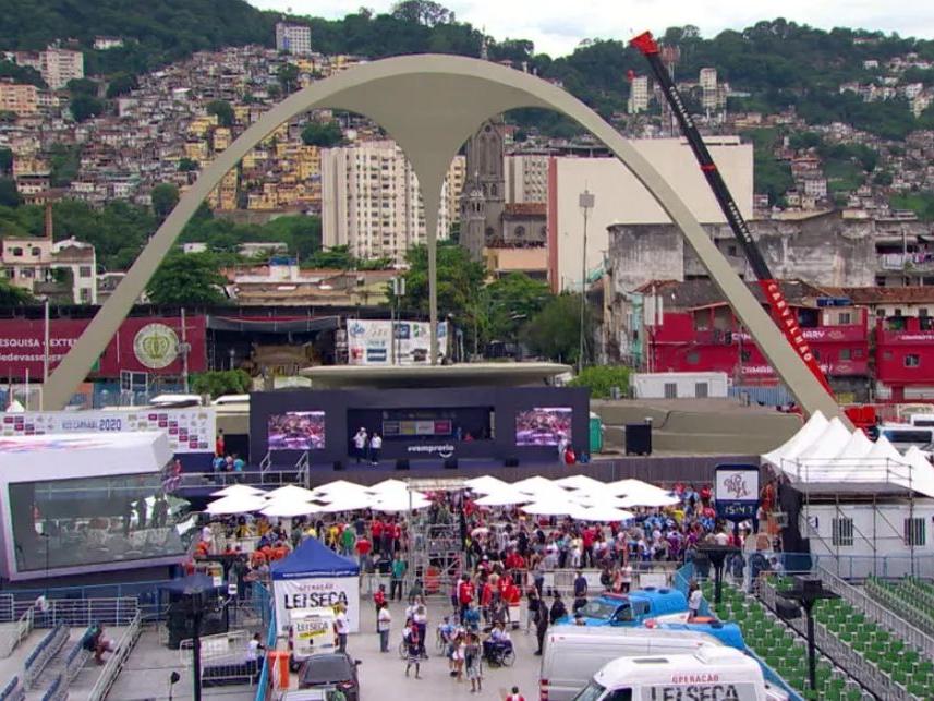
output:
<svg viewBox="0 0 934 701"><path fill-rule="evenodd" d="M272 563L271 572L280 631L288 631L293 611L337 604L347 606L350 631L360 628L360 566L355 560L306 537L291 555Z"/></svg>

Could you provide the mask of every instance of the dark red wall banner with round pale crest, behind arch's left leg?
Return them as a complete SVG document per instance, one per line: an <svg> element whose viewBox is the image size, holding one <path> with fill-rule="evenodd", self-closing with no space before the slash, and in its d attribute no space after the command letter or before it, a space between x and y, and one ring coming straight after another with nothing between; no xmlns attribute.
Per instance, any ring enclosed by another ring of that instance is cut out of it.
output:
<svg viewBox="0 0 934 701"><path fill-rule="evenodd" d="M0 376L40 379L46 351L54 370L71 350L90 319L52 319L49 347L45 345L43 319L0 321ZM183 342L189 346L189 372L207 370L205 317L190 316L182 334L181 317L146 316L124 319L110 339L92 374L120 377L121 371L154 375L180 375Z"/></svg>

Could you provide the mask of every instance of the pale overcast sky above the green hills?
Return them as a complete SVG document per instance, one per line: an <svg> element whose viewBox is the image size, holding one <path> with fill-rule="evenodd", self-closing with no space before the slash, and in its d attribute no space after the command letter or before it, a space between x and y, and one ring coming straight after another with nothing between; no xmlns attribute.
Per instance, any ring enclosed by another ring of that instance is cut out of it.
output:
<svg viewBox="0 0 934 701"><path fill-rule="evenodd" d="M248 0L264 10L291 9L293 14L342 17L367 7L376 12L392 0ZM496 39L531 39L536 51L562 56L581 39L627 40L644 29L693 24L704 37L727 28L741 29L761 20L784 16L822 28L845 25L901 36L934 38L934 3L930 0L448 0L441 2L459 20L485 27Z"/></svg>

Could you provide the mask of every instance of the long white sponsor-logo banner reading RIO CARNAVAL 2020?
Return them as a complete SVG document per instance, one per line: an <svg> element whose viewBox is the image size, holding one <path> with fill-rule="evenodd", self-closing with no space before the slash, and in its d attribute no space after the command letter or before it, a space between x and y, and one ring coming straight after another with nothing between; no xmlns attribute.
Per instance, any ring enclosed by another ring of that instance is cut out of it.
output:
<svg viewBox="0 0 934 701"><path fill-rule="evenodd" d="M0 436L59 433L134 433L162 431L175 455L211 452L217 435L215 410L133 409L129 411L45 411L0 413Z"/></svg>

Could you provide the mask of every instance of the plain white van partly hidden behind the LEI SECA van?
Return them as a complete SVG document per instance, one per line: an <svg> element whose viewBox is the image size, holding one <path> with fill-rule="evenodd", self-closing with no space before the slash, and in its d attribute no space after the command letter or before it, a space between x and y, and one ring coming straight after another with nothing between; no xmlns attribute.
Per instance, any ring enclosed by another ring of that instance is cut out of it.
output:
<svg viewBox="0 0 934 701"><path fill-rule="evenodd" d="M690 654L723 643L702 632L652 628L555 626L545 637L538 688L542 701L571 701L617 657Z"/></svg>

